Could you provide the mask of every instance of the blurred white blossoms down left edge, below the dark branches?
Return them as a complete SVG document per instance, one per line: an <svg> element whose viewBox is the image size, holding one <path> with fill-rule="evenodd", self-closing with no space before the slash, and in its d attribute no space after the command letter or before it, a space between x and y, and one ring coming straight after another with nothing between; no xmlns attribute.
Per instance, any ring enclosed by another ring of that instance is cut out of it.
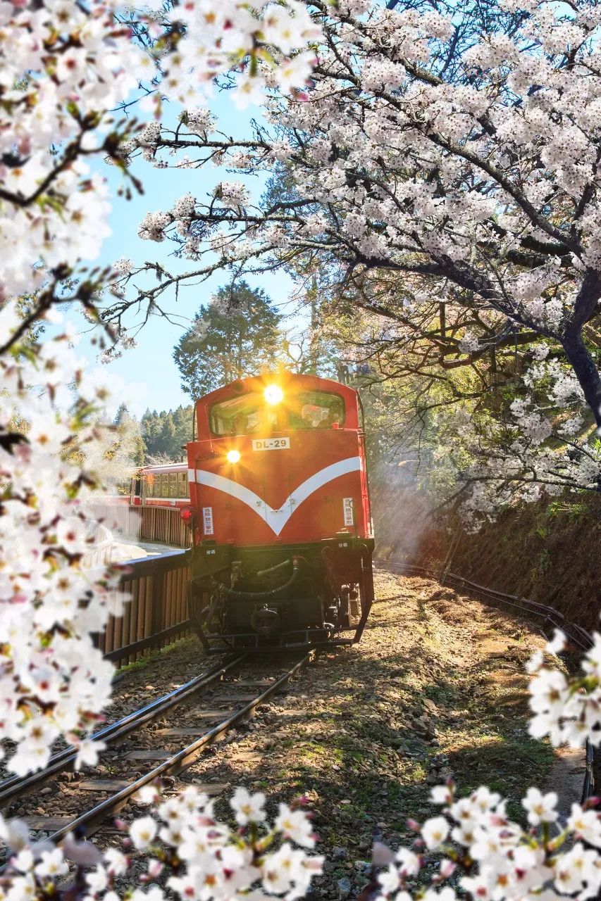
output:
<svg viewBox="0 0 601 901"><path fill-rule="evenodd" d="M14 306L5 305L0 332L19 323ZM82 564L94 541L84 502L100 484L87 460L106 441L106 395L86 384L69 345L66 333L43 349L17 345L0 359L2 434L11 438L0 447L0 739L8 740L8 767L18 775L44 766L59 735L78 749L78 765L97 760L103 746L88 734L108 703L113 674L92 633L106 623L119 575ZM67 398L57 389L63 381L73 385Z"/></svg>

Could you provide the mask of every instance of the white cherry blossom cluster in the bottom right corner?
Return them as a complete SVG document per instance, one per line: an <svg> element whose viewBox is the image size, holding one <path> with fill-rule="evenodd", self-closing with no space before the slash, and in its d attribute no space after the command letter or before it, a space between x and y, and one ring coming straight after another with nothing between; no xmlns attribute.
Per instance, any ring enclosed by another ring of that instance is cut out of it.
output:
<svg viewBox="0 0 601 901"><path fill-rule="evenodd" d="M442 815L410 824L419 835L416 848L425 843L428 851L448 855L439 860L438 871L432 873L432 861L424 851L402 849L378 876L380 896L455 901L456 887L483 901L517 901L548 893L555 899L577 892L583 899L596 896L601 886L599 857L578 841L583 833L596 846L601 840L601 814L593 806L585 810L574 805L566 827L559 827L557 796L541 796L531 788L522 803L531 816L536 811L529 817L535 828L525 831L507 817L504 800L487 788L458 800L454 790L448 783L443 799L443 787L435 787L431 800L444 805Z"/></svg>

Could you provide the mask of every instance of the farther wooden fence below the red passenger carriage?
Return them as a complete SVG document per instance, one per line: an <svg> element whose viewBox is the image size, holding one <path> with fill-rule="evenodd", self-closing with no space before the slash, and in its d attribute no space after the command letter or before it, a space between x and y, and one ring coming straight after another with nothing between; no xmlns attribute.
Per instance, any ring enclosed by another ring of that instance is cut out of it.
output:
<svg viewBox="0 0 601 901"><path fill-rule="evenodd" d="M94 504L92 513L115 534L141 542L165 542L175 547L190 546L190 529L177 507Z"/></svg>

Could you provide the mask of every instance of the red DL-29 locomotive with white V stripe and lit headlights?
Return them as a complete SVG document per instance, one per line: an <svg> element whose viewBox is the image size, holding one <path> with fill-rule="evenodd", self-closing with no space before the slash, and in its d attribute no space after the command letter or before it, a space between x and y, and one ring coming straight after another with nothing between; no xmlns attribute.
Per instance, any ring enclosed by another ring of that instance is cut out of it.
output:
<svg viewBox="0 0 601 901"><path fill-rule="evenodd" d="M208 651L358 642L373 602L363 414L326 378L201 397L190 441L190 619Z"/></svg>

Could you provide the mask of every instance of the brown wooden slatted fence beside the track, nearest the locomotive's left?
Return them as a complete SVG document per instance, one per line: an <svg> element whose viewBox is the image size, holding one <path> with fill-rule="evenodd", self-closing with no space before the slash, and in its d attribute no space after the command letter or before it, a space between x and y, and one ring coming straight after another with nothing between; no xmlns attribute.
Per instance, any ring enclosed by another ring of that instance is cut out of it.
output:
<svg viewBox="0 0 601 901"><path fill-rule="evenodd" d="M186 587L190 551L168 551L160 557L124 565L121 593L131 595L122 616L110 616L97 645L107 660L122 665L148 648L162 648L190 631Z"/></svg>

